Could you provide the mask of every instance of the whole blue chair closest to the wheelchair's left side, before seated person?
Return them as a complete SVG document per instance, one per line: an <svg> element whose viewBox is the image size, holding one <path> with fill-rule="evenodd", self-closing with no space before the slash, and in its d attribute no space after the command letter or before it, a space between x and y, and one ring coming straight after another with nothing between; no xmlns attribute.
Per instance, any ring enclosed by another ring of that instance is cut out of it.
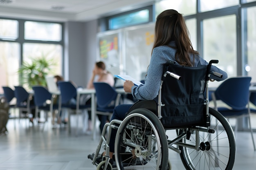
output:
<svg viewBox="0 0 256 170"><path fill-rule="evenodd" d="M94 82L93 83L96 97L97 97L97 109L96 113L98 114L100 120L100 130L102 132L108 116L112 115L115 106L118 105L117 100L120 98L120 95L117 95L115 88L111 87L109 84L104 82Z"/></svg>

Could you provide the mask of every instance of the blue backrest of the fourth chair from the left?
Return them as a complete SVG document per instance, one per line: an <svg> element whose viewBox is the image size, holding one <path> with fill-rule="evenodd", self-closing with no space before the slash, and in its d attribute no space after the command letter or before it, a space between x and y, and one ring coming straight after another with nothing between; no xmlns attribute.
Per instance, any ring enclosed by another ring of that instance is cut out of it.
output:
<svg viewBox="0 0 256 170"><path fill-rule="evenodd" d="M61 91L62 104L67 104L72 98L76 98L76 87L72 82L59 81L57 83Z"/></svg>

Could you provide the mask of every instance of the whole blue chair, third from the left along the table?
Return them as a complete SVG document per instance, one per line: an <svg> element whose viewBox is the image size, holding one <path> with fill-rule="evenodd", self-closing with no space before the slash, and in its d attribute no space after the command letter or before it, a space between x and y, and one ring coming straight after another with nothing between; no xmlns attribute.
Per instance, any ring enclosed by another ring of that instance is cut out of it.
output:
<svg viewBox="0 0 256 170"><path fill-rule="evenodd" d="M45 121L48 118L48 112L52 113L52 119L54 119L54 111L58 110L58 104L53 104L54 96L43 86L33 86L34 91L34 103L36 106L36 117L40 110L45 112ZM47 101L51 101L47 104Z"/></svg>

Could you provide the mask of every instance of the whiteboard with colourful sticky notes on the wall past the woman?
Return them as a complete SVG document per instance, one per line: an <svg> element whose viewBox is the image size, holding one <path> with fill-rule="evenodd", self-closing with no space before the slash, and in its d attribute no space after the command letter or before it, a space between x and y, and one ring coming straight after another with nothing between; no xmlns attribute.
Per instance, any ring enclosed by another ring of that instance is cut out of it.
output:
<svg viewBox="0 0 256 170"><path fill-rule="evenodd" d="M144 79L154 42L154 24L127 27L97 34L98 60L113 75Z"/></svg>

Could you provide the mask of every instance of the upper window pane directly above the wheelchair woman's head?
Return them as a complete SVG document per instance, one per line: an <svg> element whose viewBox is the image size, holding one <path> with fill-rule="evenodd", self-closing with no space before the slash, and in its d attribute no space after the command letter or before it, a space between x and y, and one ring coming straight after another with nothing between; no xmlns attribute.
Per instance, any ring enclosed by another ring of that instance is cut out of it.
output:
<svg viewBox="0 0 256 170"><path fill-rule="evenodd" d="M162 0L155 3L155 17L166 9L175 9L184 15L196 13L196 0Z"/></svg>

